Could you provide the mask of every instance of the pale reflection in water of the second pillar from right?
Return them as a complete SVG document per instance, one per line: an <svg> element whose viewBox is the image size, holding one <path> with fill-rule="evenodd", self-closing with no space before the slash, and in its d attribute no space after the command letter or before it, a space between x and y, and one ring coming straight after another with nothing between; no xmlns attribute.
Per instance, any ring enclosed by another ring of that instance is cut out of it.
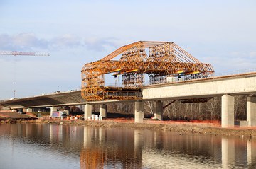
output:
<svg viewBox="0 0 256 169"><path fill-rule="evenodd" d="M221 139L221 160L223 168L230 168L230 163L235 162L235 140Z"/></svg>

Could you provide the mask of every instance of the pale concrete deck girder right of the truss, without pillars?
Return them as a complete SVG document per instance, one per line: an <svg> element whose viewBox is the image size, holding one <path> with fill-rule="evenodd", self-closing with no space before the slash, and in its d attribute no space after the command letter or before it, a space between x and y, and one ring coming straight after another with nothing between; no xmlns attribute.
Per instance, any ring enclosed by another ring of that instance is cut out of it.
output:
<svg viewBox="0 0 256 169"><path fill-rule="evenodd" d="M256 73L162 83L142 88L144 100L181 100L222 95L255 95Z"/></svg>

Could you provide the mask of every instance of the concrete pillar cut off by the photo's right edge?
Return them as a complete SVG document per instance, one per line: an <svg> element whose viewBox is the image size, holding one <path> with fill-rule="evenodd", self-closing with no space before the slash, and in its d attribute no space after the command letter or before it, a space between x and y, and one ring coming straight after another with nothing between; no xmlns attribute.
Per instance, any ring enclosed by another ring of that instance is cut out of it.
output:
<svg viewBox="0 0 256 169"><path fill-rule="evenodd" d="M249 127L256 126L256 97L247 97L247 122Z"/></svg>

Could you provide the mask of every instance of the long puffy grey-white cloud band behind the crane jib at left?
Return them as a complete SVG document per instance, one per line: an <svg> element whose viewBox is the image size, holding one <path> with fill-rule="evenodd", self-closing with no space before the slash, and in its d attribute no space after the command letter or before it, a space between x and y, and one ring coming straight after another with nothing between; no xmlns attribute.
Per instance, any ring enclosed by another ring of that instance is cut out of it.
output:
<svg viewBox="0 0 256 169"><path fill-rule="evenodd" d="M115 49L121 44L121 40L112 37L78 37L76 35L65 34L50 39L44 39L33 33L19 33L17 35L0 34L1 50L12 51L33 51L35 49L60 50L66 48L85 47L92 51L102 52L109 48Z"/></svg>

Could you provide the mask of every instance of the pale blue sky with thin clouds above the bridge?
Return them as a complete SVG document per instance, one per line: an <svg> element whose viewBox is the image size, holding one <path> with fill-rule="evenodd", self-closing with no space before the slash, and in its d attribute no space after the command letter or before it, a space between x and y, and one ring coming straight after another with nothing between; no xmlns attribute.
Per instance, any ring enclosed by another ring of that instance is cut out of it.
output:
<svg viewBox="0 0 256 169"><path fill-rule="evenodd" d="M175 42L215 74L256 68L255 0L0 0L0 100L81 86L82 66L132 42ZM15 90L15 95L14 95Z"/></svg>

